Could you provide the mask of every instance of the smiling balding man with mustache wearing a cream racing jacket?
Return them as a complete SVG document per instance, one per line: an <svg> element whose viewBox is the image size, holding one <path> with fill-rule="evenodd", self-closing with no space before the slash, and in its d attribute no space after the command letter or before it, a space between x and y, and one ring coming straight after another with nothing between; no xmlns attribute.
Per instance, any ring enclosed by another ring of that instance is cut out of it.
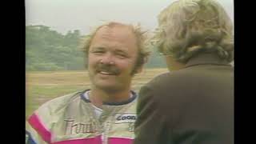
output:
<svg viewBox="0 0 256 144"><path fill-rule="evenodd" d="M27 143L132 143L137 94L130 90L149 50L139 26L110 22L86 36L91 89L54 98L28 119Z"/></svg>

